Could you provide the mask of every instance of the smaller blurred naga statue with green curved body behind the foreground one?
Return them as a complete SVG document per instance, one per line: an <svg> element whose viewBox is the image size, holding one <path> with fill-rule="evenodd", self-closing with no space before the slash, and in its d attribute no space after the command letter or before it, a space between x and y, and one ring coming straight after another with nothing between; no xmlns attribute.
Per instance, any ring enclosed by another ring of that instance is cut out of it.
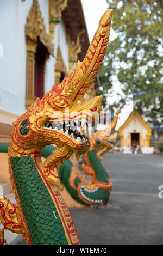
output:
<svg viewBox="0 0 163 256"><path fill-rule="evenodd" d="M116 127L118 111L109 127L105 130L96 131L90 136L90 148L84 154L86 164L82 163L84 175L72 159L67 160L58 167L61 184L76 202L85 205L106 205L112 189L109 174L99 157L107 149L111 150L111 141L117 138L117 132L112 133ZM99 147L104 147L97 151ZM56 148L48 145L41 151L41 155L47 158ZM100 153L100 154L99 154ZM86 175L91 176L89 181ZM62 186L60 188L62 190Z"/></svg>

